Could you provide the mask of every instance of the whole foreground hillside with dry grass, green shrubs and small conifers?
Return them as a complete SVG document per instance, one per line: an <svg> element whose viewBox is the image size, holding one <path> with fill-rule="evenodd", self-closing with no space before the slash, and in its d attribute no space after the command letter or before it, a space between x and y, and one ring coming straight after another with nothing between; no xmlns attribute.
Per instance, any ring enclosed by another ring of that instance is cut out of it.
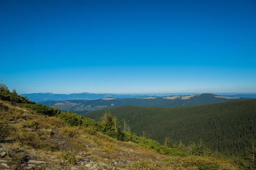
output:
<svg viewBox="0 0 256 170"><path fill-rule="evenodd" d="M189 150L168 138L160 145L136 136L128 124L123 131L109 111L96 122L71 111L40 113L32 105L0 100L0 169L238 170L254 166L250 161L211 156L202 141Z"/></svg>

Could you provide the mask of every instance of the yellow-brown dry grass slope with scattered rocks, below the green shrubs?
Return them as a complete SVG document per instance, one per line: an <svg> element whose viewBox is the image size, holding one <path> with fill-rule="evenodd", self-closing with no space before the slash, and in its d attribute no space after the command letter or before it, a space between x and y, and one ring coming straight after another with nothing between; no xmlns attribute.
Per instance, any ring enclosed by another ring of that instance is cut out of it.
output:
<svg viewBox="0 0 256 170"><path fill-rule="evenodd" d="M4 146L1 146L9 155L1 159L8 161L12 169L24 169L29 159L48 162L35 164L36 170L70 169L74 166L85 170L87 167L84 165L89 161L97 162L99 169L115 167L116 170L198 169L215 165L225 170L238 169L233 161L212 157L167 158L132 142L117 141L100 132L91 133L87 127L69 127L57 117L35 114L18 107L22 104L3 101L0 104L9 107L9 111L0 111L0 119L7 119L11 130ZM69 156L65 156L67 153ZM79 164L79 161L84 164ZM0 169L6 168L0 165Z"/></svg>

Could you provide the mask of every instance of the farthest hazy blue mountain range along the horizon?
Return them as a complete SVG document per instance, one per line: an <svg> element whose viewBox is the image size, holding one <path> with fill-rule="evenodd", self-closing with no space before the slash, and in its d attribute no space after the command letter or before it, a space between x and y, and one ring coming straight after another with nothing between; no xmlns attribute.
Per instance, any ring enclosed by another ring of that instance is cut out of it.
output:
<svg viewBox="0 0 256 170"><path fill-rule="evenodd" d="M256 94L220 94L221 96L230 96L230 97L239 97L239 98L255 98ZM31 94L21 94L21 96L27 96L29 100L33 102L43 102L49 100L93 100L93 99L103 99L106 97L114 97L114 98L136 98L136 97L149 97L149 96L186 96L192 95L190 94L93 94L93 93L73 93L73 94L53 94L53 93L31 93Z"/></svg>

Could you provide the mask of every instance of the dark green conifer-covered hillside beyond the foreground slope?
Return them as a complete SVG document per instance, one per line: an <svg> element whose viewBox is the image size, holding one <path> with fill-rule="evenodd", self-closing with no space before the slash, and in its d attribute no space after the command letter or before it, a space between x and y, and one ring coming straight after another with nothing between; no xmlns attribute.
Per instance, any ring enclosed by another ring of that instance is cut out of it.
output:
<svg viewBox="0 0 256 170"><path fill-rule="evenodd" d="M184 144L202 138L212 150L244 155L250 141L256 139L256 99L178 108L122 106L110 111L117 119L125 119L134 133L143 136L145 130L161 143L166 136ZM103 112L85 116L99 120Z"/></svg>

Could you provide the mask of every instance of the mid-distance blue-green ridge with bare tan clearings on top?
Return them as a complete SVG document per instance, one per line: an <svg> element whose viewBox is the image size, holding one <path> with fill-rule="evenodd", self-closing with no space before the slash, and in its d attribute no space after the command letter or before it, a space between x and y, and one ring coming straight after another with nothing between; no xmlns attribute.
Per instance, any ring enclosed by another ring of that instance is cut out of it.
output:
<svg viewBox="0 0 256 170"><path fill-rule="evenodd" d="M202 105L217 102L227 102L232 100L241 100L244 98L219 96L215 94L198 94L189 96L169 96L169 97L136 97L136 98L115 98L106 97L95 100L51 100L39 102L43 105L60 108L62 111L71 110L75 113L84 114L90 111L96 111L105 108L116 108L125 105L144 106L144 107L180 107L191 105Z"/></svg>

